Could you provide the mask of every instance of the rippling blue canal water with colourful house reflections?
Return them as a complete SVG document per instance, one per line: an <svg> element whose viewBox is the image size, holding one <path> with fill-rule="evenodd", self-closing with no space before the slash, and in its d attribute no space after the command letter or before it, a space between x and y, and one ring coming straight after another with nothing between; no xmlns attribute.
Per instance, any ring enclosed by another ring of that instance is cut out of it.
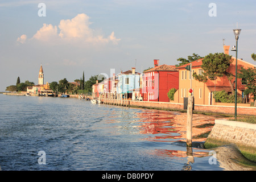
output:
<svg viewBox="0 0 256 182"><path fill-rule="evenodd" d="M197 137L187 148L184 114L0 94L0 166L15 171L224 170L200 137L214 118L195 115L195 125L205 127L195 127Z"/></svg>

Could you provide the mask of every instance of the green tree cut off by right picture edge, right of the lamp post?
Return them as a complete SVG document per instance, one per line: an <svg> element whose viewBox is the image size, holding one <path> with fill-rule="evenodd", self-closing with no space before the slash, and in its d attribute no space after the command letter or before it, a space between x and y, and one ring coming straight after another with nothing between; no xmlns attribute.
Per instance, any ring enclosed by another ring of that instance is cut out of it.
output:
<svg viewBox="0 0 256 182"><path fill-rule="evenodd" d="M243 82L246 82L246 89L243 93L253 94L254 106L256 106L256 68L243 68L239 70L237 74L238 78L242 78Z"/></svg>

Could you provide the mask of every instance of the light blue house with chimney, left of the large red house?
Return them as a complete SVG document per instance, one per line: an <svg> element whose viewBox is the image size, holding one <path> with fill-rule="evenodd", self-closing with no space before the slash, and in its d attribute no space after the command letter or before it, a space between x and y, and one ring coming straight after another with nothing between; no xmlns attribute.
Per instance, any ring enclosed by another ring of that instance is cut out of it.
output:
<svg viewBox="0 0 256 182"><path fill-rule="evenodd" d="M117 75L117 93L127 93L127 98L135 99L139 96L140 73L135 72L135 68L131 69L131 71L121 72Z"/></svg>

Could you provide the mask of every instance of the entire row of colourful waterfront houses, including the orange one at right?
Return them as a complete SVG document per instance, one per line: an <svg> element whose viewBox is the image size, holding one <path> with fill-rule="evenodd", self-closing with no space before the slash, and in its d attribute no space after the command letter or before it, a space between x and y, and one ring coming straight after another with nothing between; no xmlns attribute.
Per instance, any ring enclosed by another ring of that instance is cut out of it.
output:
<svg viewBox="0 0 256 182"><path fill-rule="evenodd" d="M224 53L229 54L229 46L224 46ZM232 56L232 64L227 72L235 75L236 58ZM201 65L203 59L184 64L180 67L174 65L159 65L159 60L154 60L154 67L144 71L143 73L135 72L135 68L129 71L121 72L117 76L105 79L104 81L93 85L93 97L99 97L100 94L121 94L125 96L127 93L128 99L155 101L155 102L174 102L184 103L184 98L188 97L189 89L192 87L195 104L197 105L215 105L213 96L214 91L225 90L231 93L235 88L230 86L228 77L218 77L216 80L208 80L200 82L195 80L191 75L203 73ZM192 65L191 73L187 66ZM248 63L242 59L237 60L238 70L241 67L255 68L256 65ZM234 82L235 78L231 81ZM238 95L245 98L246 102L252 101L252 96L245 96L245 84L242 79L237 79ZM174 94L174 101L170 101L167 93L170 89L175 88L177 91ZM232 90L233 89L233 90Z"/></svg>

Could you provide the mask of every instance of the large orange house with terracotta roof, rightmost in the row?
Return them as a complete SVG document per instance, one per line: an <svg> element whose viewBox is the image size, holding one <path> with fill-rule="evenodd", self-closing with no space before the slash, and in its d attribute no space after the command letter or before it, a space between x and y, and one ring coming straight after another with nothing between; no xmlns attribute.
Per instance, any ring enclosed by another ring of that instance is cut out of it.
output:
<svg viewBox="0 0 256 182"><path fill-rule="evenodd" d="M224 46L224 53L229 53L229 46ZM232 73L233 75L236 75L236 57L232 56L232 63L230 64L228 68L228 72ZM197 75L200 75L203 73L203 69L201 68L203 59L199 59L196 61L191 62L192 63L192 75L193 73L197 73ZM228 77L218 77L216 80L208 80L207 82L199 82L195 80L193 76L190 76L190 71L187 71L185 67L188 64L184 64L180 67L177 67L179 69L179 90L175 93L175 101L176 103L184 103L184 98L188 97L189 89L191 88L191 82L192 82L192 90L193 90L193 96L195 98L195 104L197 105L215 105L215 100L213 98L213 92L214 91L221 91L225 90L228 93L232 92L232 86L230 86ZM237 59L237 70L243 68L255 68L256 65L248 63L242 59ZM192 78L191 78L192 77ZM192 80L191 80L192 79ZM236 80L235 76L231 80L232 83L234 83ZM234 84L235 85L235 84ZM235 89L235 86L233 85L233 90ZM237 93L238 96L242 96L243 98L246 98L246 102L253 102L253 97L251 96L244 96L243 90L245 90L245 84L242 83L241 78L237 78Z"/></svg>

